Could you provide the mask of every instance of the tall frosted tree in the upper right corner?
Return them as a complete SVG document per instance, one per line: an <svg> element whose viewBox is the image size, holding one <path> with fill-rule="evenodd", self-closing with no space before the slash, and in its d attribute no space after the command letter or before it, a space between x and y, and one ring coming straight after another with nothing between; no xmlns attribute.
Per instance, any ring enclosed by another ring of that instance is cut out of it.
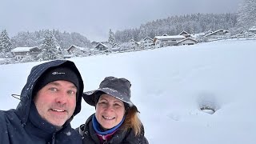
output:
<svg viewBox="0 0 256 144"><path fill-rule="evenodd" d="M256 26L256 1L244 0L238 9L238 32Z"/></svg>

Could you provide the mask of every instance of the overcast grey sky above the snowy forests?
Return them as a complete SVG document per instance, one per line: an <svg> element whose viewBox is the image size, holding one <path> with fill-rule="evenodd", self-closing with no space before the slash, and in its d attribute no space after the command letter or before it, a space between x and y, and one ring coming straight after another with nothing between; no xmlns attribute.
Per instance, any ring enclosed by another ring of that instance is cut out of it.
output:
<svg viewBox="0 0 256 144"><path fill-rule="evenodd" d="M2 0L0 30L58 29L90 41L107 40L109 30L124 30L168 16L237 12L243 0Z"/></svg>

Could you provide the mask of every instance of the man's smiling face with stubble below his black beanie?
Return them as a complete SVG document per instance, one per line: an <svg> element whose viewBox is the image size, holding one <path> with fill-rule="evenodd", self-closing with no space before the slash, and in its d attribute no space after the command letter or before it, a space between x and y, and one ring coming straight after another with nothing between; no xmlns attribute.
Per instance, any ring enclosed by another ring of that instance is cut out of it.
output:
<svg viewBox="0 0 256 144"><path fill-rule="evenodd" d="M72 82L50 82L38 91L34 104L43 119L54 126L62 126L74 113L76 93Z"/></svg>

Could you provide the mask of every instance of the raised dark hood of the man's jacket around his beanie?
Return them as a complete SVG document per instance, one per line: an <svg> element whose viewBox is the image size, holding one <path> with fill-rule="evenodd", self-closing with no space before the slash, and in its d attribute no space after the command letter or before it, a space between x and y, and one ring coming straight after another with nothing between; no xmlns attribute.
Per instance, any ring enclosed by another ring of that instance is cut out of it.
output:
<svg viewBox="0 0 256 144"><path fill-rule="evenodd" d="M67 121L70 122L74 115L78 114L81 110L81 100L82 100L82 92L83 92L83 82L82 82L82 76L80 72L78 71L78 68L75 66L74 62L68 61L68 60L54 60L50 62L45 62L42 64L39 64L37 66L34 66L31 71L30 75L27 78L26 85L22 89L20 100L21 102L18 103L18 106L16 108L18 117L21 119L22 123L26 123L29 113L30 113L30 106L32 99L34 98L33 91L34 86L36 82L38 81L38 78L42 76L46 72L46 70L50 69L54 66L66 66L69 67L71 70L74 70L74 72L77 74L79 79L79 90L77 95L77 102L76 107L74 110L73 116Z"/></svg>

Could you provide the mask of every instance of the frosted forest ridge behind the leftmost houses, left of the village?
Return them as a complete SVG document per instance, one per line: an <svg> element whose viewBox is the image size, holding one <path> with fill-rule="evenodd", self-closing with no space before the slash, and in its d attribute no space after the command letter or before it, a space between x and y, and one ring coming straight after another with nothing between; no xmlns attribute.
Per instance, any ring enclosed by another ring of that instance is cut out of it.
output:
<svg viewBox="0 0 256 144"><path fill-rule="evenodd" d="M72 45L82 47L92 47L90 40L78 33L60 32L59 30L38 30L34 32L19 32L16 36L11 38L12 47L26 47L26 46L40 46L46 33L54 35L54 42L56 46L60 46L63 50Z"/></svg>

